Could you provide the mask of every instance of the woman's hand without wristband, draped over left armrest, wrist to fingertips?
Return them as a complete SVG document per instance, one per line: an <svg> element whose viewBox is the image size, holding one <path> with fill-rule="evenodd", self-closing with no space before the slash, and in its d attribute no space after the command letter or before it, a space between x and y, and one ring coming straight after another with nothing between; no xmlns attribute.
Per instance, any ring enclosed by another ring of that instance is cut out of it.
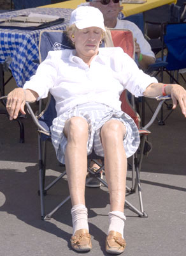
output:
<svg viewBox="0 0 186 256"><path fill-rule="evenodd" d="M16 119L19 111L25 115L25 91L23 88L16 88L8 93L6 109L10 115L10 120Z"/></svg>

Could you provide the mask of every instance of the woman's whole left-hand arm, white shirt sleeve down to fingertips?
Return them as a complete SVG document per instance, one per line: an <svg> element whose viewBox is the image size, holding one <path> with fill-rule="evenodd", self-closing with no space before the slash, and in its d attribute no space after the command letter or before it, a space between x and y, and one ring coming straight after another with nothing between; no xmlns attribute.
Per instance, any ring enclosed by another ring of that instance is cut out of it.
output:
<svg viewBox="0 0 186 256"><path fill-rule="evenodd" d="M24 84L24 88L16 88L8 94L6 109L10 120L17 118L20 111L25 115L25 101L34 102L38 97L47 97L48 91L54 85L57 77L57 65L61 51L48 52L48 56L36 70L36 74Z"/></svg>

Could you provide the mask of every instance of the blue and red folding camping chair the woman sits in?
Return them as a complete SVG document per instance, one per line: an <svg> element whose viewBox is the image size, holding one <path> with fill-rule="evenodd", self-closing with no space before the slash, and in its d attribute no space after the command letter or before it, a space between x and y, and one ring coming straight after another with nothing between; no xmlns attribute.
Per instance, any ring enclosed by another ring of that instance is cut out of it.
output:
<svg viewBox="0 0 186 256"><path fill-rule="evenodd" d="M127 49L129 50L129 54L131 54L131 57L134 55L134 40L132 37L131 31L120 31L120 30L111 30L108 31L108 34L106 36L106 39L104 40L104 46L116 46L120 43L122 44L125 51ZM44 46L45 45L45 46ZM103 45L102 45L103 46ZM71 49L72 45L69 44L69 41L66 38L66 33L63 31L43 31L40 36L40 42L39 42L39 58L40 61L45 60L47 56L47 52L49 50L59 50L59 49ZM44 50L44 51L43 51ZM54 97L49 95L48 97L48 103L44 111L42 111L39 115L34 115L31 106L28 102L26 102L27 110L31 114L34 123L38 127L38 141L39 141L39 195L40 195L40 201L41 201L41 218L43 220L50 220L52 215L62 206L64 205L70 198L68 196L66 199L64 199L55 209L53 209L48 214L45 214L45 205L44 205L44 195L47 194L48 189L52 188L54 184L56 184L57 181L59 181L64 175L66 175L66 171L61 173L57 179L55 179L51 184L45 187L45 172L46 172L46 145L47 141L51 141L50 138L50 125L52 125L52 120L56 116L55 111L55 100ZM162 103L164 100L162 100L159 103L159 106L157 110L155 111L155 114L153 115L150 122L143 127L143 129L140 129L140 120L138 114L134 111L132 106L127 101L126 97L126 91L122 93L121 95L122 100L122 109L128 113L129 115L134 118L134 121L139 127L139 132L141 136L141 144L140 144L140 156L136 152L134 156L132 156L132 185L131 188L127 187L126 191L127 193L133 193L136 191L136 188L138 188L138 195L140 200L140 210L137 209L134 205L129 203L127 200L125 200L125 205L129 207L132 211L136 212L140 217L147 217L147 213L143 210L143 202L142 202L142 195L141 195L141 184L140 184L140 169L141 169L141 162L143 159L143 151L145 147L145 141L147 139L147 134L150 132L147 131L147 128L154 122L155 117L157 116L157 113L161 109ZM127 109L127 110L125 110ZM96 159L97 156L95 154L88 156L91 159ZM97 157L100 158L100 157ZM96 161L96 160L95 160ZM88 168L88 171L96 177L102 184L106 187L106 182L101 179L100 172L104 169L104 165L102 165L99 170L97 170L96 173L92 172L90 168ZM136 176L135 176L136 173Z"/></svg>

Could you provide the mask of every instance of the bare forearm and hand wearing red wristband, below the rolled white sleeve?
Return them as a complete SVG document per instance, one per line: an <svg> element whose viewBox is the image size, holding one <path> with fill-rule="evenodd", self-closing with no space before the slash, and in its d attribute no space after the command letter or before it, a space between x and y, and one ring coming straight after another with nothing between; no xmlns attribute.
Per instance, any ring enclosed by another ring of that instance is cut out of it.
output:
<svg viewBox="0 0 186 256"><path fill-rule="evenodd" d="M143 95L147 97L171 95L173 100L173 109L176 108L179 102L182 113L186 117L186 90L181 85L152 83L146 88Z"/></svg>

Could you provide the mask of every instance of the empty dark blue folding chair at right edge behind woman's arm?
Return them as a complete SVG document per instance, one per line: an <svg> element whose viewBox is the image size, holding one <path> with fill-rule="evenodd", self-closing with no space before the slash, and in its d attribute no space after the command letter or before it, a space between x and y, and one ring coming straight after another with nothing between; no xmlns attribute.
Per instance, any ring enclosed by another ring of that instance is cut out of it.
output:
<svg viewBox="0 0 186 256"><path fill-rule="evenodd" d="M166 61L166 65L161 65L159 63L159 67L155 70L154 76L158 76L161 73L161 82L164 82L164 72L169 76L169 83L177 83L179 84L179 76L182 77L183 81L186 83L186 79L179 72L180 69L186 68L186 22L176 22L176 23L164 23L161 24L161 59ZM167 54L165 55L165 50ZM164 62L163 62L164 63ZM154 70L154 66L150 65L148 67L148 72L152 72ZM153 113L153 110L146 101L148 108ZM159 119L159 124L164 125L166 119L173 112L172 104L168 104L165 102L167 108L170 110L167 115L164 116L163 107L161 109L161 118Z"/></svg>

